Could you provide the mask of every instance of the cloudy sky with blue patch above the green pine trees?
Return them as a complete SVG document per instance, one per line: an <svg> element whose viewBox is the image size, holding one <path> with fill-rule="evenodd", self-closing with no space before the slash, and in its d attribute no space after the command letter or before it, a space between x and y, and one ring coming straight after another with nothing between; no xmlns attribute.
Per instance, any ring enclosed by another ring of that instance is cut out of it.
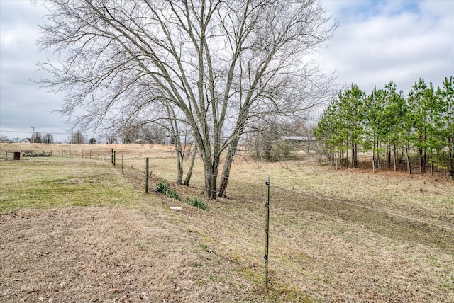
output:
<svg viewBox="0 0 454 303"><path fill-rule="evenodd" d="M394 81L409 91L422 76L441 85L454 71L454 1L323 1L338 18L330 48L316 58L341 84L370 92Z"/></svg>

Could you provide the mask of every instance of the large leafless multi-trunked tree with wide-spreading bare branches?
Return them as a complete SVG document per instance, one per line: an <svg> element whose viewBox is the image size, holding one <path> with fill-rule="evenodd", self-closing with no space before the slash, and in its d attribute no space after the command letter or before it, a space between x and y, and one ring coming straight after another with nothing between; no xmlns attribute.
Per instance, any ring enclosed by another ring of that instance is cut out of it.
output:
<svg viewBox="0 0 454 303"><path fill-rule="evenodd" d="M41 64L52 74L43 86L67 92L60 113L84 128L166 118L187 123L210 198L225 193L231 160L250 125L301 115L325 101L329 79L306 57L326 47L337 23L318 1L47 4L40 44L60 60ZM217 189L223 151L230 161Z"/></svg>

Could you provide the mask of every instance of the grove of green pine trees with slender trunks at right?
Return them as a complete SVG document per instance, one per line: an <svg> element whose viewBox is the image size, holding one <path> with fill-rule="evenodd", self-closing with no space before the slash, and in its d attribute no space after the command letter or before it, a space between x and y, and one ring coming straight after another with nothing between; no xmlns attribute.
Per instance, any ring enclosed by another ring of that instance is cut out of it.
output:
<svg viewBox="0 0 454 303"><path fill-rule="evenodd" d="M437 88L420 78L407 96L392 81L370 95L352 84L325 108L314 135L329 164L355 168L358 152L372 151L374 170L404 164L408 173L437 168L453 178L453 77Z"/></svg>

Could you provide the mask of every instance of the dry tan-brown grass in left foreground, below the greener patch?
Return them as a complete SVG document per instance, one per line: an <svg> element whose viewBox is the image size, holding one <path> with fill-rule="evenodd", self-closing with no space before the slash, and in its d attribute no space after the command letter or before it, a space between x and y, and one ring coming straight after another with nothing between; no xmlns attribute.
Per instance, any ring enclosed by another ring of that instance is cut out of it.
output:
<svg viewBox="0 0 454 303"><path fill-rule="evenodd" d="M248 301L248 282L223 283L228 263L152 212L23 210L0 215L0 236L2 303Z"/></svg>

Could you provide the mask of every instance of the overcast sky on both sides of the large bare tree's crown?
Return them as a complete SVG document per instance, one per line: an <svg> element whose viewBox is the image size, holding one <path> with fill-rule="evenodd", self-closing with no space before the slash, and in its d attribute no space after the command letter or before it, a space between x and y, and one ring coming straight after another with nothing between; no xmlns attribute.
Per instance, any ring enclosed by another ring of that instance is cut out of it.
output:
<svg viewBox="0 0 454 303"><path fill-rule="evenodd" d="M394 81L407 93L420 76L435 86L454 76L454 0L322 3L340 26L314 57L338 84L370 93ZM9 139L31 137L33 126L55 141L70 137L70 124L52 113L63 95L33 82L46 77L36 64L50 56L35 42L45 13L39 0L0 0L0 136Z"/></svg>

